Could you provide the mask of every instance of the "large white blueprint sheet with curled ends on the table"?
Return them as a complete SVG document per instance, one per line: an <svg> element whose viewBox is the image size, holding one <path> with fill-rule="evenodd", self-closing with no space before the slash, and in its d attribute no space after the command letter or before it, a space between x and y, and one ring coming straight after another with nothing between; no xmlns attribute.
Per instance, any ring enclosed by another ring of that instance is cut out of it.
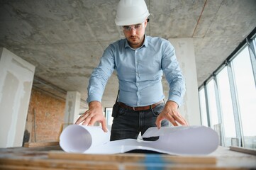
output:
<svg viewBox="0 0 256 170"><path fill-rule="evenodd" d="M60 147L65 152L84 154L117 154L134 149L150 150L165 154L210 154L218 147L218 135L204 126L177 126L149 128L143 137L160 136L156 141L109 141L110 132L101 127L69 125L60 135Z"/></svg>

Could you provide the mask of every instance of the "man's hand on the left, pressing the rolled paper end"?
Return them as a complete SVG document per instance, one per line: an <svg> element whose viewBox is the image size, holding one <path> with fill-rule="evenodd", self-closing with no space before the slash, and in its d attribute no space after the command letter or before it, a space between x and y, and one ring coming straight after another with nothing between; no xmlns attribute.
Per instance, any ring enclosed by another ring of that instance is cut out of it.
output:
<svg viewBox="0 0 256 170"><path fill-rule="evenodd" d="M101 103L99 101L91 101L89 103L89 110L81 115L75 124L78 125L82 123L82 125L92 126L97 121L101 123L102 130L108 132L106 128L106 118L103 115Z"/></svg>

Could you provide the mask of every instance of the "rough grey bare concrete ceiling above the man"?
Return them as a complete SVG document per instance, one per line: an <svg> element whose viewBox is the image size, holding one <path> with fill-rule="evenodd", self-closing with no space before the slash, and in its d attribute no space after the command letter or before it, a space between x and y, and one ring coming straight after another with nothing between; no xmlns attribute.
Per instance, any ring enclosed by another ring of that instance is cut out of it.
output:
<svg viewBox="0 0 256 170"><path fill-rule="evenodd" d="M1 0L0 47L34 64L34 86L65 98L79 91L82 103L92 69L109 43L123 38L114 23L118 0ZM255 0L146 0L146 34L193 38L201 85L256 27ZM104 106L116 98L113 74ZM84 104L84 107L87 107Z"/></svg>

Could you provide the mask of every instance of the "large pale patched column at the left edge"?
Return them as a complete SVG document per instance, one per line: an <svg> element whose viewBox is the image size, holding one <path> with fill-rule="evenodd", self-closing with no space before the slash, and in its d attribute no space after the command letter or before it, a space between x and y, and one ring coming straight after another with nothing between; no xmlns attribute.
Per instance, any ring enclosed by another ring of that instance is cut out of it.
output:
<svg viewBox="0 0 256 170"><path fill-rule="evenodd" d="M0 147L21 147L35 66L0 48Z"/></svg>

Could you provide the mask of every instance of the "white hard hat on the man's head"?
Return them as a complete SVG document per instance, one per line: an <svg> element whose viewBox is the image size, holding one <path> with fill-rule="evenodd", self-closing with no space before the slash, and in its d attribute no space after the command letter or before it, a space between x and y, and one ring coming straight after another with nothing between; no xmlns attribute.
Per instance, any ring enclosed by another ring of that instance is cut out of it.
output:
<svg viewBox="0 0 256 170"><path fill-rule="evenodd" d="M116 26L143 23L149 15L144 0L120 0L116 11Z"/></svg>

